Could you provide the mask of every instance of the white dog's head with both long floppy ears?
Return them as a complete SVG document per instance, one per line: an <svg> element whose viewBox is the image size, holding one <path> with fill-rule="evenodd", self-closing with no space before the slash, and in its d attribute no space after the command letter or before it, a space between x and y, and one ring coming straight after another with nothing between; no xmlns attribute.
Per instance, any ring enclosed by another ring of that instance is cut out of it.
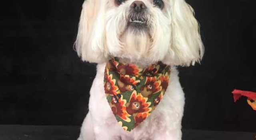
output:
<svg viewBox="0 0 256 140"><path fill-rule="evenodd" d="M114 56L188 66L204 53L184 0L86 0L75 46L82 60L96 63Z"/></svg>

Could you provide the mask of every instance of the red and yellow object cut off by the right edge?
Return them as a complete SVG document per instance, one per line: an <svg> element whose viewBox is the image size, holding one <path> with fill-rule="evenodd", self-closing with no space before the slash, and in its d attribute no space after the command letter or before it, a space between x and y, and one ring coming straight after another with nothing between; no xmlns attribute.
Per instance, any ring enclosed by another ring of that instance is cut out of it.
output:
<svg viewBox="0 0 256 140"><path fill-rule="evenodd" d="M252 107L252 109L256 110L256 92L235 89L232 93L234 102L236 102L241 96L245 96L247 97L247 103Z"/></svg>

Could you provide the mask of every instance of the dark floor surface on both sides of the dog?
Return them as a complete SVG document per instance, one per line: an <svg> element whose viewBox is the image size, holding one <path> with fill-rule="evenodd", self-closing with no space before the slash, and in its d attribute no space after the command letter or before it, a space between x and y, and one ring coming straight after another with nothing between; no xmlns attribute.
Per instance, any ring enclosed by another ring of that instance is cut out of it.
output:
<svg viewBox="0 0 256 140"><path fill-rule="evenodd" d="M182 140L255 140L256 133L182 130ZM76 140L79 126L0 125L0 140Z"/></svg>

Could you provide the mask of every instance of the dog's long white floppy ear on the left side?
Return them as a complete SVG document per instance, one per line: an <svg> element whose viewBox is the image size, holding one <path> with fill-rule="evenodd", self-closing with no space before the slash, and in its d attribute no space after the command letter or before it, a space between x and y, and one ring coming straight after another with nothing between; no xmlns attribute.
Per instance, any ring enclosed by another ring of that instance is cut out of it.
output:
<svg viewBox="0 0 256 140"><path fill-rule="evenodd" d="M104 19L106 0L85 0L82 7L74 44L78 56L88 62L105 62L108 55Z"/></svg>

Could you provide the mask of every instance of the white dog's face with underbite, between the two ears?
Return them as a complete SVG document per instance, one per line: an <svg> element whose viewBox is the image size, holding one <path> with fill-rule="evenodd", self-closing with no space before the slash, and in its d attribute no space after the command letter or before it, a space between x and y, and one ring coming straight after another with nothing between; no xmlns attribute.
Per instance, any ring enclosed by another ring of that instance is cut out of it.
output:
<svg viewBox="0 0 256 140"><path fill-rule="evenodd" d="M171 39L169 3L162 0L109 2L106 42L110 54L134 61L163 60Z"/></svg>

